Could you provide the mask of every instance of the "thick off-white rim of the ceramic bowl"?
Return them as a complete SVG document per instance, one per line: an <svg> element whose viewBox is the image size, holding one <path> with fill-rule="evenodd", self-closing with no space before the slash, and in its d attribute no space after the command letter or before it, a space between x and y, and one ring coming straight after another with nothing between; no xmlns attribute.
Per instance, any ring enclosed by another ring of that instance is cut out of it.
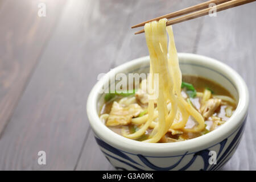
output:
<svg viewBox="0 0 256 182"><path fill-rule="evenodd" d="M207 56L196 55L193 53L178 53L178 56L179 59L186 59L188 62L193 61L193 63L202 64L208 68L216 68L218 69L218 72L222 73L228 77L230 81L232 81L232 84L235 86L238 92L238 105L232 117L229 118L229 122L226 122L225 125L222 125L217 130L213 130L206 135L174 143L139 142L122 137L121 135L118 135L110 130L107 126L104 125L104 123L100 121L98 116L97 99L101 95L101 93L98 91L106 81L109 81L109 76L111 74L125 71L127 68L131 68L135 65L149 61L149 56L144 56L121 64L118 67L112 69L100 80L98 80L96 85L93 86L88 96L86 110L90 126L92 127L97 137L123 152L130 154L163 156L170 154L181 154L184 151L199 151L201 149L208 148L213 146L214 143L218 143L221 140L227 138L232 132L238 129L242 125L242 122L247 115L249 106L249 92L242 77L228 65Z"/></svg>

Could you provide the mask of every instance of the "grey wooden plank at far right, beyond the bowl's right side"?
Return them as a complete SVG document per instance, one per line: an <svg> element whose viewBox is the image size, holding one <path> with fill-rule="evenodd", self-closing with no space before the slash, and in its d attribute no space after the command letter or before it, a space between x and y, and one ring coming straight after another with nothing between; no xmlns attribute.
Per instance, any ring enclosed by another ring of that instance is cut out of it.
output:
<svg viewBox="0 0 256 182"><path fill-rule="evenodd" d="M201 55L213 57L234 68L249 86L250 107L245 133L233 158L224 170L256 169L256 113L255 113L255 16L256 3L250 3L206 17L197 45Z"/></svg>

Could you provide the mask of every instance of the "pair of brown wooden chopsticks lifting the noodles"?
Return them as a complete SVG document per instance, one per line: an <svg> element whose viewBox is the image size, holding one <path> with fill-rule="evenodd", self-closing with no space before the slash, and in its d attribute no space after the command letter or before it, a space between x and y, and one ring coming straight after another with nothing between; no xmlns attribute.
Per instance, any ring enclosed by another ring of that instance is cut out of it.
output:
<svg viewBox="0 0 256 182"><path fill-rule="evenodd" d="M236 7L236 6L241 6L241 5L245 5L247 3L250 3L250 2L254 2L256 0L231 0L231 1L227 1L227 2L224 2L224 3L220 3L219 5L216 6L216 11L222 11L222 10L226 10L226 9L230 9L232 7ZM220 1L218 1L220 2ZM209 1L208 2L205 2L205 3L208 3L209 5ZM201 3L202 4L202 3ZM201 5L199 4L199 5ZM199 5L196 5L197 9L200 8ZM192 6L193 7L193 6ZM193 12L192 11L192 7L189 7L189 11L190 12ZM205 7L205 5L203 5L202 7ZM207 6L208 7L208 6ZM195 6L194 6L195 8ZM176 23L180 23L180 22L185 22L187 20L191 20L191 19L195 19L195 18L198 18L200 16L204 16L204 15L207 15L209 14L209 11L212 10L212 7L208 7L206 9L203 9L203 10L199 10L199 11L196 11L194 13L191 13L191 14L188 14L188 15L184 15L184 16L180 16L179 18L175 18L175 19L171 19L171 20L168 20L166 22L166 26L170 26L172 24L176 24ZM183 11L183 10L180 10L180 11ZM176 11L175 13L177 13L178 11ZM173 14L175 14L173 13ZM184 13L184 11L183 11ZM184 13L185 14L185 13ZM167 15L164 15L164 16L160 16L158 18L162 19L162 18L166 18L166 17L170 17L170 14L167 14ZM152 20L159 20L158 18L155 18L155 19L152 19ZM147 21L147 22L150 22L151 20ZM144 24L146 24L145 22L143 22ZM139 26L143 26L144 24L143 23L140 23L136 26L133 26L133 27L139 27ZM141 34L143 33L144 30L141 30L141 31L138 31L138 32L135 32L135 35L137 34Z"/></svg>

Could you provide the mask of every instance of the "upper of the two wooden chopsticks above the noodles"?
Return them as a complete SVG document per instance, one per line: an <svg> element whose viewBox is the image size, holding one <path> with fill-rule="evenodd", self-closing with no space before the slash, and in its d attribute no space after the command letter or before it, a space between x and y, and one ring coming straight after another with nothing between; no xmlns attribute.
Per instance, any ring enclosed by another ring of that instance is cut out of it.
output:
<svg viewBox="0 0 256 182"><path fill-rule="evenodd" d="M163 19L163 18L171 19L171 18L175 18L177 16L181 16L181 15L189 14L189 13L192 13L192 12L195 12L195 11L203 10L203 9L208 8L210 3L215 3L216 5L219 5L219 4L227 2L227 1L232 1L232 0L210 0L210 1L207 1L207 2L200 3L198 5L195 5L195 6L187 7L183 10L175 11L174 13L166 14L166 15L159 16L159 17L151 19L151 20L147 20L146 22L136 24L136 25L132 26L131 28L142 27L146 23L152 22L154 20L158 21L158 20Z"/></svg>

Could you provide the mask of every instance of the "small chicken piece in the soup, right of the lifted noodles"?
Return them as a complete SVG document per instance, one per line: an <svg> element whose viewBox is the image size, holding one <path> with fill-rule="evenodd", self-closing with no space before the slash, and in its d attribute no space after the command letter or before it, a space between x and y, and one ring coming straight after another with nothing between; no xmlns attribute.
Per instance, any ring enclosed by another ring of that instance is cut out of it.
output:
<svg viewBox="0 0 256 182"><path fill-rule="evenodd" d="M201 114L204 119L208 119L211 115L213 115L214 111L220 106L221 100L218 98L211 98L201 107Z"/></svg>

